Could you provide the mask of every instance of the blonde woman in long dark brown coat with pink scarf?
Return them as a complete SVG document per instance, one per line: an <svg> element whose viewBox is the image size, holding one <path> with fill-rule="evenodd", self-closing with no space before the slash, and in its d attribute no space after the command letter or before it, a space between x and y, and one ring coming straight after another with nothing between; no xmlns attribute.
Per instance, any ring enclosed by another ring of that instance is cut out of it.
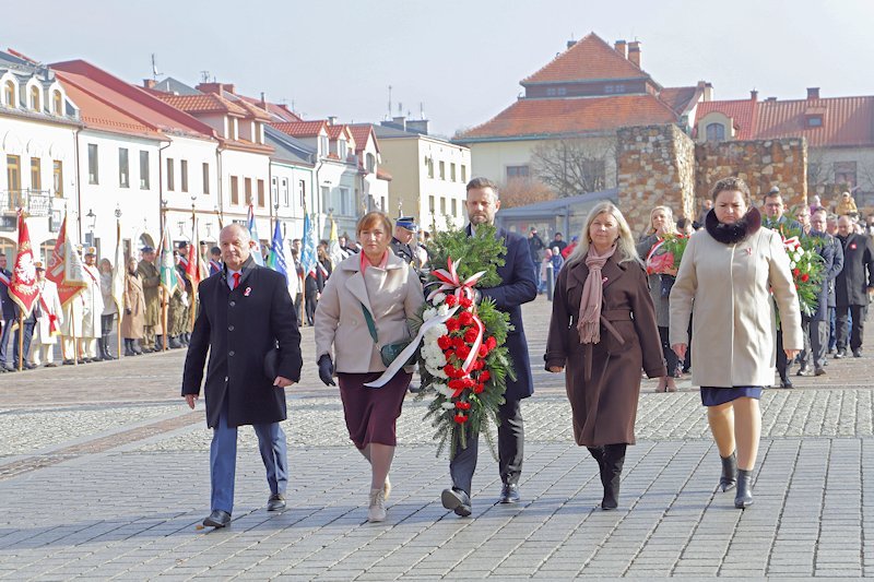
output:
<svg viewBox="0 0 874 582"><path fill-rule="evenodd" d="M668 370L647 274L628 223L610 202L589 213L558 275L545 360L551 372L567 366L574 438L598 461L601 509L615 509L625 449L635 443L640 369L649 378Z"/></svg>

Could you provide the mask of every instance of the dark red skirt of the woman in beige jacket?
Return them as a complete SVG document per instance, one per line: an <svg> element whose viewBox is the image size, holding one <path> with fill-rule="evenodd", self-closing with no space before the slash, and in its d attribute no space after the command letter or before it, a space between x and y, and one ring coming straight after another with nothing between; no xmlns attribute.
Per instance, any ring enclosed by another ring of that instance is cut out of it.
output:
<svg viewBox="0 0 874 582"><path fill-rule="evenodd" d="M349 438L358 449L371 442L391 447L398 443L394 424L401 416L403 399L413 375L402 370L382 388L364 385L380 376L382 372L336 375Z"/></svg>

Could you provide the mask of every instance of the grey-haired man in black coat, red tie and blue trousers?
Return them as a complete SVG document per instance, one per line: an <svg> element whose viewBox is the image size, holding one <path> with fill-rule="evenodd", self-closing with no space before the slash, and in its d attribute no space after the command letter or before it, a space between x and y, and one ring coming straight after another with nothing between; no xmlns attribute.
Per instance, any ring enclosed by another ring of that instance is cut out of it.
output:
<svg viewBox="0 0 874 582"><path fill-rule="evenodd" d="M224 227L220 245L224 266L218 276L199 286L200 312L182 376L182 396L193 408L210 354L204 395L206 424L213 429L212 513L203 525L212 527L231 522L240 425L252 425L258 436L270 485L268 511L285 507L286 446L279 423L286 417L284 389L300 380L303 365L300 332L285 277L255 263L250 257L255 244L246 228Z"/></svg>

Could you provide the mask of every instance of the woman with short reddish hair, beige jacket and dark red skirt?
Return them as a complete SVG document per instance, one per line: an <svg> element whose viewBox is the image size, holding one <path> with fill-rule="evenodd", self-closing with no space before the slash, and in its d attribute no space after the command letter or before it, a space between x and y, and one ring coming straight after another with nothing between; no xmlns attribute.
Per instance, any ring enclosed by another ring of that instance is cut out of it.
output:
<svg viewBox="0 0 874 582"><path fill-rule="evenodd" d="M391 221L381 212L370 212L358 221L362 252L334 268L315 317L319 377L326 385L334 385L336 372L350 439L370 462L370 522L386 519L385 499L391 488L389 470L397 444L394 426L413 368L399 371L382 388L364 384L386 371L380 346L412 337L408 319L425 301L416 272L389 250L391 233Z"/></svg>

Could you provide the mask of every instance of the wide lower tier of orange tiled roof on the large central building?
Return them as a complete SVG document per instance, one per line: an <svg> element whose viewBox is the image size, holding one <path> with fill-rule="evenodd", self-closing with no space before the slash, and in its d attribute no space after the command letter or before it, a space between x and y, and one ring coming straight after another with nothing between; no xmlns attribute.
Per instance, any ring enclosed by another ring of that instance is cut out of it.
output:
<svg viewBox="0 0 874 582"><path fill-rule="evenodd" d="M494 119L458 136L461 142L612 131L627 126L672 123L676 112L653 95L569 99L519 99Z"/></svg>

